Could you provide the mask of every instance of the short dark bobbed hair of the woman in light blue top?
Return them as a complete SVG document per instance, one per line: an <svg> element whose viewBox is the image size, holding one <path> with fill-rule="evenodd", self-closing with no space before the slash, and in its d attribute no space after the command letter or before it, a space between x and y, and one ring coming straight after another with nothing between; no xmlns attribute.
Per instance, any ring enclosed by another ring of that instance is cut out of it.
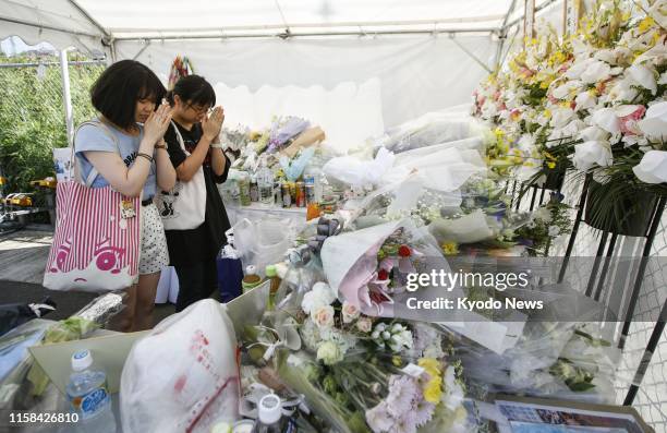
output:
<svg viewBox="0 0 667 433"><path fill-rule="evenodd" d="M160 79L145 64L121 60L111 64L90 89L93 107L120 128L135 123L136 101L150 99L156 105L167 89Z"/></svg>

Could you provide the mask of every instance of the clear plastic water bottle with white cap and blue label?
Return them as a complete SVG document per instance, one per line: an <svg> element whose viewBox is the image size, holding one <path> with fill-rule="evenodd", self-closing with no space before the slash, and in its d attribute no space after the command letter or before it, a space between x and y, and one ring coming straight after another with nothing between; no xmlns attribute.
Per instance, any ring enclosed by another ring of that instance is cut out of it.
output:
<svg viewBox="0 0 667 433"><path fill-rule="evenodd" d="M72 409L78 413L76 431L116 433L105 371L93 368L89 350L80 350L72 356L72 370L66 393Z"/></svg>

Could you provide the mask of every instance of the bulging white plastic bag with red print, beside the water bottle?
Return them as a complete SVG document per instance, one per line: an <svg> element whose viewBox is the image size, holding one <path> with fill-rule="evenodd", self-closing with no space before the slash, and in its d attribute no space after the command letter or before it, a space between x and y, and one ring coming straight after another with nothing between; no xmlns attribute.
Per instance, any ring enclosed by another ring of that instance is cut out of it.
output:
<svg viewBox="0 0 667 433"><path fill-rule="evenodd" d="M233 324L205 299L160 322L128 357L120 387L124 432L209 432L233 421L239 366Z"/></svg>

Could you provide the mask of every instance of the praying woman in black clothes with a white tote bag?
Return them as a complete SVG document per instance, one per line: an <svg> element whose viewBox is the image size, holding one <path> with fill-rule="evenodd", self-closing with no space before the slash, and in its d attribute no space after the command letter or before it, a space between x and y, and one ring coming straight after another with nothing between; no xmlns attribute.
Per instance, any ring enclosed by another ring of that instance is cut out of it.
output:
<svg viewBox="0 0 667 433"><path fill-rule="evenodd" d="M206 183L204 222L192 230L165 231L171 265L179 277L175 310L182 311L208 298L217 287L216 256L230 226L216 184L227 180L230 164L218 137L225 112L216 107L208 116L216 104L211 85L201 76L189 75L179 80L167 98L173 107L173 124L167 130L165 141L178 179L191 181L202 167ZM182 151L175 129L190 155Z"/></svg>

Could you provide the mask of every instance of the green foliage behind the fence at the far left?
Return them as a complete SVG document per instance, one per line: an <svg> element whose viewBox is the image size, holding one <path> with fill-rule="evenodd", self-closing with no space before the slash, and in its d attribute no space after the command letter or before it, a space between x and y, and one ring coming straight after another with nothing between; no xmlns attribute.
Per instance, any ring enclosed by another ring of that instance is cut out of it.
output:
<svg viewBox="0 0 667 433"><path fill-rule="evenodd" d="M58 58L0 56L0 63L26 62L56 63L0 69L0 169L8 179L5 194L31 191L29 181L54 176L52 149L68 146ZM95 115L89 88L104 69L101 63L70 67L75 124Z"/></svg>

